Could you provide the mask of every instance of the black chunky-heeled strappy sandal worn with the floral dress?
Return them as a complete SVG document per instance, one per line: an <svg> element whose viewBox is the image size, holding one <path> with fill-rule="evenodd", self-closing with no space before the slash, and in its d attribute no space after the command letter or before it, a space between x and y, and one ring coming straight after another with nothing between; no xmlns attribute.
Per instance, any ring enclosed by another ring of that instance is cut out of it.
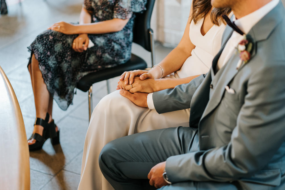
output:
<svg viewBox="0 0 285 190"><path fill-rule="evenodd" d="M28 139L35 139L36 142L34 144L29 145L29 150L39 150L42 148L44 145L44 142L48 138L50 138L52 145L58 144L59 143L59 130L56 132L56 125L54 124L54 120L52 122L48 123L50 115L46 113L46 118L41 119L41 118L36 118L35 124L34 125L40 125L44 128L42 131L42 135L38 133L33 133L31 137Z"/></svg>

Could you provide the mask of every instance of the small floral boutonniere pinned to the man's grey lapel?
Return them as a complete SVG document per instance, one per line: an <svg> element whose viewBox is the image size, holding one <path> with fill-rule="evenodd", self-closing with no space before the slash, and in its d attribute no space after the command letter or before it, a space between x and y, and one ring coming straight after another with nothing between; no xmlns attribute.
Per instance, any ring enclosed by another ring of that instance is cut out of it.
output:
<svg viewBox="0 0 285 190"><path fill-rule="evenodd" d="M250 58L251 58L251 49L252 49L252 43L247 40L247 36L243 34L243 40L239 42L237 45L237 51L239 52L239 62L237 63L237 70L241 67L241 65L244 63L246 64Z"/></svg>

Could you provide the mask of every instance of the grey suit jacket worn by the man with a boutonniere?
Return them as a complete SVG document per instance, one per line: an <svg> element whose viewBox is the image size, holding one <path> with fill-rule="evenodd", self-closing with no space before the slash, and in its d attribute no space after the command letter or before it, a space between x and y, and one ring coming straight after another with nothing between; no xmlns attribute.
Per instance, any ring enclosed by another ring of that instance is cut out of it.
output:
<svg viewBox="0 0 285 190"><path fill-rule="evenodd" d="M191 108L200 151L166 161L171 182L218 181L285 189L285 19L281 2L250 30L251 60L236 69L239 54L214 74L153 94L158 113ZM227 26L223 43L231 36ZM210 85L213 88L210 88ZM225 91L225 86L235 94Z"/></svg>

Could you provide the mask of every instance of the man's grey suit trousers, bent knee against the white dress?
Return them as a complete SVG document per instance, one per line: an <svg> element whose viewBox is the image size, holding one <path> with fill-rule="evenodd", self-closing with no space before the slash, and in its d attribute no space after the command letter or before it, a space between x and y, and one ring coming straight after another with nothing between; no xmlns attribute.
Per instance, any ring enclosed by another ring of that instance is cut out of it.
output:
<svg viewBox="0 0 285 190"><path fill-rule="evenodd" d="M198 148L196 128L158 129L109 142L100 153L99 166L105 178L116 190L155 189L148 184L147 179L148 172L153 166L166 161L170 156L196 151ZM176 185L171 186L177 188ZM188 186L187 189L189 188Z"/></svg>

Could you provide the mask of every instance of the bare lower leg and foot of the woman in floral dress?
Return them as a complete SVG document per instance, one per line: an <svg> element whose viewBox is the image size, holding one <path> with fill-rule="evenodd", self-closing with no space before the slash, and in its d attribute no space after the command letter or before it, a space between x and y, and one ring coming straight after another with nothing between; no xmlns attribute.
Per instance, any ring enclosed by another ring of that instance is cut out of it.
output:
<svg viewBox="0 0 285 190"><path fill-rule="evenodd" d="M45 119L46 113L52 114L52 96L46 88L44 79L42 78L42 72L38 66L38 60L36 60L34 54L32 55L32 63L29 66L29 71L32 80L32 88L34 92L34 101L36 107L36 117ZM50 117L48 122L52 121ZM42 135L43 127L40 125L35 125L33 133L38 133ZM34 144L35 139L28 140L28 144Z"/></svg>

